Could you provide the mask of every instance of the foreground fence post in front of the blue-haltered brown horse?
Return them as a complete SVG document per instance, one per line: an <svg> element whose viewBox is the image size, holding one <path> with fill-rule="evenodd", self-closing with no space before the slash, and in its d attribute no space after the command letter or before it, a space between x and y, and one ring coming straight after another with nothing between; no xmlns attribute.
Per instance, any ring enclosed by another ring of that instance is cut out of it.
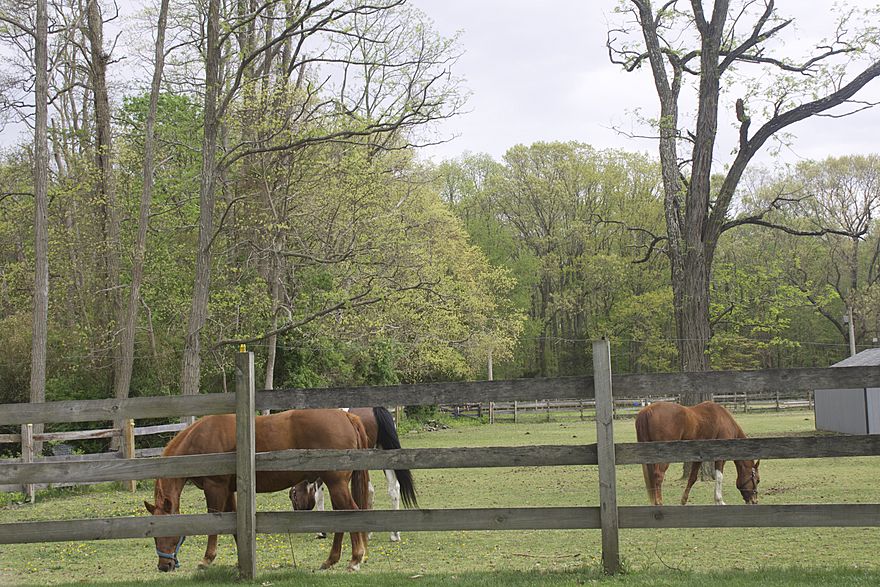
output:
<svg viewBox="0 0 880 587"><path fill-rule="evenodd" d="M256 476L254 455L254 354L235 355L235 486L238 492L235 541L238 546L238 572L242 579L257 574Z"/></svg>

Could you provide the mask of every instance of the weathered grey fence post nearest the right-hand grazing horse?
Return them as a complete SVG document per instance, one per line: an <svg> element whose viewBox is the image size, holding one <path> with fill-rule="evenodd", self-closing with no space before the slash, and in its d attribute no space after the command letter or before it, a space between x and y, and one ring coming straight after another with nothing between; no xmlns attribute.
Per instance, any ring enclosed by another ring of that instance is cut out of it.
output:
<svg viewBox="0 0 880 587"><path fill-rule="evenodd" d="M617 472L614 455L614 400L611 394L611 347L593 341L593 384L596 392L596 449L599 456L599 519L602 523L602 568L620 571L617 519Z"/></svg>

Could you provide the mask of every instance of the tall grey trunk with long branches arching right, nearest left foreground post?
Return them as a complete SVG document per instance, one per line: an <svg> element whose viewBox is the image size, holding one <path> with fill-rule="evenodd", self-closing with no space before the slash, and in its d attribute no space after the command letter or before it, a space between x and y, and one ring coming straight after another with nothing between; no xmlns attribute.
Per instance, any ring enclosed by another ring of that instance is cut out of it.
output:
<svg viewBox="0 0 880 587"><path fill-rule="evenodd" d="M208 317L208 295L211 279L211 240L214 231L214 180L217 174L217 97L220 91L220 47L218 26L220 0L208 5L207 51L205 58L205 134L202 139L202 180L199 190L199 239L196 251L193 297L187 323L181 372L181 393L199 392L201 372L201 331Z"/></svg>

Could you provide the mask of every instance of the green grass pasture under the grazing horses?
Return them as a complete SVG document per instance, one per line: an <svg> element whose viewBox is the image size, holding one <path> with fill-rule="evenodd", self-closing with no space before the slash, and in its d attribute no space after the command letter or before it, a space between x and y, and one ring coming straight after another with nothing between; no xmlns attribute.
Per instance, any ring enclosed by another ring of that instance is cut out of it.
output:
<svg viewBox="0 0 880 587"><path fill-rule="evenodd" d="M556 417L554 415L554 417ZM737 414L750 436L813 433L811 412ZM632 419L615 421L618 442L633 442ZM576 444L595 442L592 422L578 419L519 424L456 425L432 432L411 431L407 448ZM761 465L760 500L785 503L877 503L880 460L876 457L766 461ZM664 484L674 503L683 481L674 472ZM737 503L733 467L725 478L725 499ZM594 505L598 502L595 466L543 469L446 469L415 472L419 502L425 508ZM617 471L620 505L644 505L639 466ZM384 476L373 475L377 508L388 507ZM152 483L136 494L107 488L52 492L36 504L9 504L0 523L25 520L146 515ZM696 504L712 503L712 484L691 493ZM289 508L286 492L258 497L260 510ZM184 491L183 513L204 511L197 489ZM47 543L0 546L0 584L142 585L234 584L235 546L220 537L215 567L196 570L205 537L187 540L176 573L156 571L152 540ZM346 539L347 542L347 539ZM606 578L600 571L598 530L534 532L404 533L400 543L387 534L370 541L367 561L355 576L344 564L314 573L329 549L311 535L258 535L258 581L262 585L876 585L880 584L880 528L745 528L622 530L621 558L626 573ZM347 550L347 545L345 549ZM345 557L345 551L343 557ZM294 562L296 567L294 568Z"/></svg>

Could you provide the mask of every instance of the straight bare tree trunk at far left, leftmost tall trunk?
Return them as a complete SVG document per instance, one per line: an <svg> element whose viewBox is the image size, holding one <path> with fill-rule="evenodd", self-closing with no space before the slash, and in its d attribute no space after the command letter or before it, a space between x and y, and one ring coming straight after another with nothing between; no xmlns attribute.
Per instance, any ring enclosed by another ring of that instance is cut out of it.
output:
<svg viewBox="0 0 880 587"><path fill-rule="evenodd" d="M37 0L34 47L34 324L31 342L31 388L33 403L46 401L46 344L49 331L49 137L48 137L48 29L46 0ZM34 433L43 424L34 424ZM34 442L35 454L43 450Z"/></svg>

